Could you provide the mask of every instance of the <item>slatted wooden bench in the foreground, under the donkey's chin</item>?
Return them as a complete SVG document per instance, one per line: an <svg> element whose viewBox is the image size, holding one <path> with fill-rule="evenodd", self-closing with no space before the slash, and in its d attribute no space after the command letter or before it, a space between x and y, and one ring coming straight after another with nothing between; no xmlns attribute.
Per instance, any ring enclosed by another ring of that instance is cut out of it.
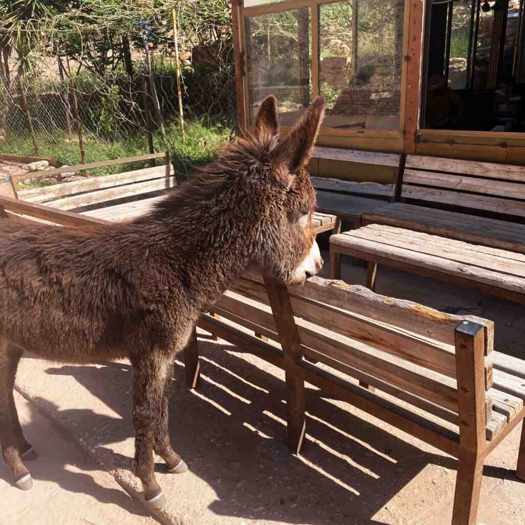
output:
<svg viewBox="0 0 525 525"><path fill-rule="evenodd" d="M319 277L287 288L254 271L213 309L221 320L203 314L199 327L285 370L293 453L306 431L308 382L457 457L453 523L476 523L484 460L525 416L525 362L492 352L492 322ZM184 361L195 387L196 334ZM525 479L525 433L517 475Z"/></svg>

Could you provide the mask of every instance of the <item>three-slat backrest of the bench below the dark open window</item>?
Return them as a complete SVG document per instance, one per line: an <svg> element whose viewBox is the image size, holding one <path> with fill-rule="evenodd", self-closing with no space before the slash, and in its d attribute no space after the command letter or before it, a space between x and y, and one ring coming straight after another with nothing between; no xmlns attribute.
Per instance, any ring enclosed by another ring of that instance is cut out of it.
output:
<svg viewBox="0 0 525 525"><path fill-rule="evenodd" d="M525 217L525 167L407 155L401 196L468 213Z"/></svg>

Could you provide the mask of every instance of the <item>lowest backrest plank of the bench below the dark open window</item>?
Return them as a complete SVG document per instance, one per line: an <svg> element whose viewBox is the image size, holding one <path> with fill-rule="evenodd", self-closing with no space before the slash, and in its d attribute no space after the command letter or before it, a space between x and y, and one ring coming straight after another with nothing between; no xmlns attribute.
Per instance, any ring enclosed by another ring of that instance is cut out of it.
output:
<svg viewBox="0 0 525 525"><path fill-rule="evenodd" d="M471 210L482 210L486 212L525 217L525 202L511 201L510 199L500 197L471 195L450 190L437 190L436 188L405 185L403 185L402 195L403 197L417 199L418 201L449 204L451 206L459 206Z"/></svg>

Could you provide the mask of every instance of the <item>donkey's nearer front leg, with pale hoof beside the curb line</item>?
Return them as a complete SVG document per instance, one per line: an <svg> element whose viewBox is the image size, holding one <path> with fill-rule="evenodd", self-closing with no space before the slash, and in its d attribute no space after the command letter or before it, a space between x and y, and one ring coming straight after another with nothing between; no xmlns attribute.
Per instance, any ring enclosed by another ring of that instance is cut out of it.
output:
<svg viewBox="0 0 525 525"><path fill-rule="evenodd" d="M134 355L133 365L133 428L135 430L135 474L142 481L144 496L157 509L164 507L166 497L153 473L153 445L159 424L166 376L170 361L161 352L149 351Z"/></svg>

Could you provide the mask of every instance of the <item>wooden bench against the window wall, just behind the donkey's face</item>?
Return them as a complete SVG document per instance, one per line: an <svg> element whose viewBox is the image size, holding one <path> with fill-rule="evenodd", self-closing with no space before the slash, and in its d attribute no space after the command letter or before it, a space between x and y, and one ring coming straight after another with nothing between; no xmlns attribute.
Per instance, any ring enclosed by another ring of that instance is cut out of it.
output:
<svg viewBox="0 0 525 525"><path fill-rule="evenodd" d="M342 150L322 148L313 150L313 161L323 159L348 162L349 172L356 164L364 166L381 166L395 171L398 176L401 166L401 155L373 151ZM314 172L310 168L310 172ZM375 182L356 182L337 178L311 176L316 188L317 208L321 212L337 215L341 220L349 221L352 227L361 226L361 216L381 207L385 201L394 199L394 184Z"/></svg>

